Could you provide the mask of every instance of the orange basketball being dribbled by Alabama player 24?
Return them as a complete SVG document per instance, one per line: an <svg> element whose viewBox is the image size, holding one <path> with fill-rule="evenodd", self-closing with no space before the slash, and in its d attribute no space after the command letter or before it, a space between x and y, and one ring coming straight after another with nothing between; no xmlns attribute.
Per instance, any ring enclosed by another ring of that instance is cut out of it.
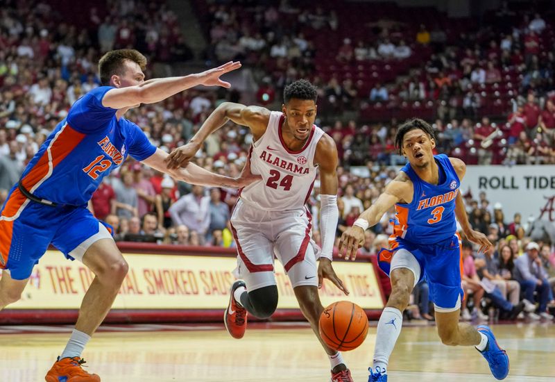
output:
<svg viewBox="0 0 555 382"><path fill-rule="evenodd" d="M320 337L327 346L340 351L359 347L368 334L368 317L350 301L338 301L320 315Z"/></svg>

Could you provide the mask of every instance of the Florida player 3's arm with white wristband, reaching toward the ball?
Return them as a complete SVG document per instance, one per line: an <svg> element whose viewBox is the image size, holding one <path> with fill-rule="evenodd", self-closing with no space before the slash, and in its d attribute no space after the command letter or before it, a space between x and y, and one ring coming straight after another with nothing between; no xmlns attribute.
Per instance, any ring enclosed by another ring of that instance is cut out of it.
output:
<svg viewBox="0 0 555 382"><path fill-rule="evenodd" d="M375 203L360 214L352 227L341 235L339 241L339 256L345 254L345 260L355 260L358 249L364 244L364 232L368 227L375 226L382 219L384 213L400 201L411 200L413 192L409 177L400 172L388 185L384 193L379 195Z"/></svg>

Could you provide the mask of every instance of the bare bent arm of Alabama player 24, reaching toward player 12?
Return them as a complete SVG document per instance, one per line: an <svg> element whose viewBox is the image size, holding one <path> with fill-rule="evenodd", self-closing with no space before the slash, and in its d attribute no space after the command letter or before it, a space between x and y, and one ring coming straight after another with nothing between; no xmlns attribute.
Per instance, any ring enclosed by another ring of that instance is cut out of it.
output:
<svg viewBox="0 0 555 382"><path fill-rule="evenodd" d="M250 128L255 140L257 140L266 131L268 119L270 119L270 110L260 106L245 106L241 103L222 103L207 117L203 126L200 126L200 129L187 144L171 151L167 158L167 167L176 169L187 165L195 153L203 147L203 142L207 136L221 128L230 119L236 124Z"/></svg>

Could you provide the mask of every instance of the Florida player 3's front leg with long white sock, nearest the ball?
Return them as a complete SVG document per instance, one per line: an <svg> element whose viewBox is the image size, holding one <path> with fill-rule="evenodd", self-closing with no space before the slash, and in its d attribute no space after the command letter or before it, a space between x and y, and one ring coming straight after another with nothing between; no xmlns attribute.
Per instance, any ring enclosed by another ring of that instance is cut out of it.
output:
<svg viewBox="0 0 555 382"><path fill-rule="evenodd" d="M386 378L389 357L401 333L402 312L409 305L411 292L421 273L422 267L410 251L402 248L395 252L389 271L391 295L377 324L373 368L368 381L384 381Z"/></svg>

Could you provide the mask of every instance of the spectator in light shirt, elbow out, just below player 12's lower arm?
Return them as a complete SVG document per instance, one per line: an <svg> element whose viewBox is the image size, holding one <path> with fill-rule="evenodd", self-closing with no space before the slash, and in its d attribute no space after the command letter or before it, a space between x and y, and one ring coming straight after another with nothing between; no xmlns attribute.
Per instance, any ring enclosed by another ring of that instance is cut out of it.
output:
<svg viewBox="0 0 555 382"><path fill-rule="evenodd" d="M178 199L169 208L173 224L185 224L189 231L205 235L210 226L210 197L203 196L204 188L194 185L191 192Z"/></svg>

